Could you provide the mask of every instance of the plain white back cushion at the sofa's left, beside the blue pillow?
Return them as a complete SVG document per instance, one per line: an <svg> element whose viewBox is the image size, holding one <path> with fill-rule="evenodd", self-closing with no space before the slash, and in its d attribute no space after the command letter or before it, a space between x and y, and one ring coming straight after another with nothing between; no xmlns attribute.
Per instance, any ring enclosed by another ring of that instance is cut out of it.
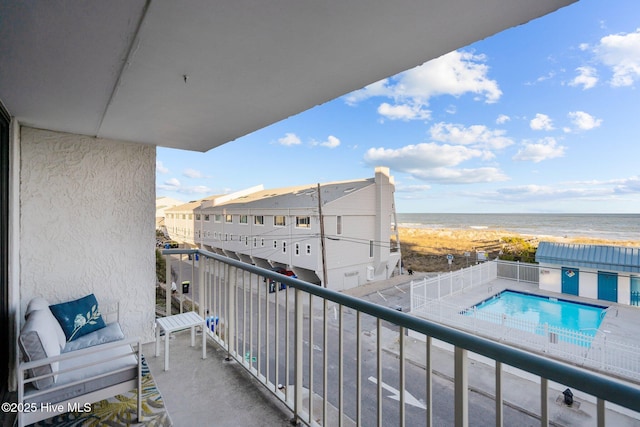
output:
<svg viewBox="0 0 640 427"><path fill-rule="evenodd" d="M49 310L35 310L29 313L27 321L22 327L18 343L24 359L28 362L60 355L56 326L58 322ZM29 377L50 374L58 371L58 362L29 370ZM55 377L46 377L34 381L32 384L38 389L51 386Z"/></svg>

